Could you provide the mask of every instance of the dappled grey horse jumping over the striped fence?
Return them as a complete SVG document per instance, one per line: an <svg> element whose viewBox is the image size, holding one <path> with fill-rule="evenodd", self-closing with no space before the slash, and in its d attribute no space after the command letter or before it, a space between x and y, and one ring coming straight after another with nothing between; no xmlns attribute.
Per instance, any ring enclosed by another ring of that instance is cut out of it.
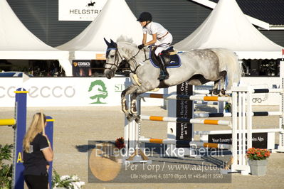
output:
<svg viewBox="0 0 284 189"><path fill-rule="evenodd" d="M238 83L241 79L241 64L231 50L224 48L209 48L201 50L189 50L179 53L182 65L179 68L168 69L169 79L158 80L159 68L154 68L149 60L149 50L139 50L137 45L127 38L117 39L117 43L110 40L107 43L105 76L110 79L115 76L115 71L122 63L129 63L130 78L132 85L122 91L122 111L127 119L136 119L136 98L138 95L154 90L155 88L179 85L188 81L189 85L203 85L214 81L214 90L217 90L219 82L224 84L228 77L226 90L230 90L233 82ZM126 95L130 95L131 107L127 108Z"/></svg>

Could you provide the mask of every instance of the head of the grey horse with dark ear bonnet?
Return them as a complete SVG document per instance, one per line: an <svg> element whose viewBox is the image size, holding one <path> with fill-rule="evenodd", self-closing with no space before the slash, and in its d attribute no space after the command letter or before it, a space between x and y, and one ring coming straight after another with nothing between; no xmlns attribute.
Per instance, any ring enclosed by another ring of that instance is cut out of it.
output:
<svg viewBox="0 0 284 189"><path fill-rule="evenodd" d="M118 69L120 63L122 62L122 57L117 49L117 43L110 40L110 43L104 38L105 43L107 43L107 52L105 57L107 58L105 62L105 72L104 75L107 79L115 76L115 71Z"/></svg>

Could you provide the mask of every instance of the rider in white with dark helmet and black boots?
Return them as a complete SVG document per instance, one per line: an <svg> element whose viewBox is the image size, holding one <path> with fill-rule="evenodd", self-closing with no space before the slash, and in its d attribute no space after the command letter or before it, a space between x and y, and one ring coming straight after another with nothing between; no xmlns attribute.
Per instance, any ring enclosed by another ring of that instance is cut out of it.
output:
<svg viewBox="0 0 284 189"><path fill-rule="evenodd" d="M165 50L172 43L172 34L167 31L161 24L152 22L152 15L148 12L142 12L137 19L140 21L143 30L143 40L142 44L138 45L139 49L144 48L145 45L153 45L159 41L160 45L155 50L155 55L159 57L161 72L158 77L159 80L167 80L169 78L169 73L167 72L166 66L164 65L164 58L162 58L162 50ZM147 33L152 35L152 40L147 41Z"/></svg>

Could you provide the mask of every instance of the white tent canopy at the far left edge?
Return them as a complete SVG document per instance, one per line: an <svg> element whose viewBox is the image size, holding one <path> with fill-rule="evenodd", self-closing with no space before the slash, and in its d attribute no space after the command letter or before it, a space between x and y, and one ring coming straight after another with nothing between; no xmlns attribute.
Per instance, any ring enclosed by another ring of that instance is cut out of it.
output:
<svg viewBox="0 0 284 189"><path fill-rule="evenodd" d="M0 59L59 60L66 75L72 75L68 51L58 50L33 35L21 23L6 0L0 0Z"/></svg>

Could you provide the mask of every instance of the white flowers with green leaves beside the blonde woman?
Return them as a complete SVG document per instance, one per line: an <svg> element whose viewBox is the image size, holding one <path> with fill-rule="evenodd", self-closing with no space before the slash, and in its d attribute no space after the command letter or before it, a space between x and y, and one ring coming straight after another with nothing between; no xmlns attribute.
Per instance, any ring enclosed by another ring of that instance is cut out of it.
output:
<svg viewBox="0 0 284 189"><path fill-rule="evenodd" d="M68 188L68 189L80 189L85 185L85 182L81 182L78 175L59 175L55 170L52 177L52 188Z"/></svg>

